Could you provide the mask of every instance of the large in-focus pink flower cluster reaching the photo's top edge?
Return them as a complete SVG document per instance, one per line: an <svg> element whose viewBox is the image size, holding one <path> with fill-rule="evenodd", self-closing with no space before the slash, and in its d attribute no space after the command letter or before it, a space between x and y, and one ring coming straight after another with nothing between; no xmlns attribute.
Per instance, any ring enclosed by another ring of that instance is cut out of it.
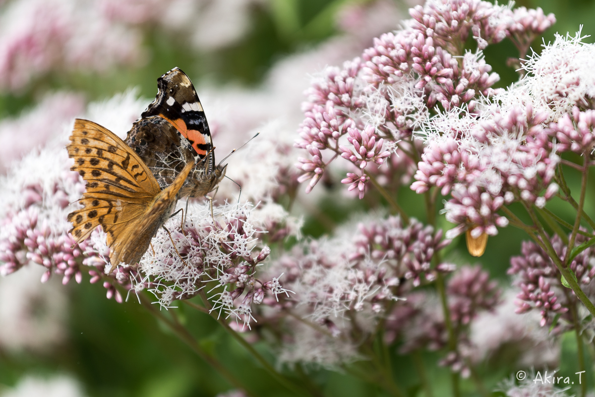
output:
<svg viewBox="0 0 595 397"><path fill-rule="evenodd" d="M479 53L461 52L469 34L480 49L512 37L526 51L527 40L555 21L540 9L512 11L477 0L430 1L410 14L405 29L374 39L361 59L343 68L326 68L306 91L305 119L295 144L309 154L297 164L300 182L310 181L306 192L340 156L352 170L342 183L364 197L371 176L380 174L378 166L368 165L386 164L402 172L399 161L387 158L396 157L395 149L403 147L399 142L411 141L437 105L444 111L477 111L475 100L493 96L498 75Z"/></svg>

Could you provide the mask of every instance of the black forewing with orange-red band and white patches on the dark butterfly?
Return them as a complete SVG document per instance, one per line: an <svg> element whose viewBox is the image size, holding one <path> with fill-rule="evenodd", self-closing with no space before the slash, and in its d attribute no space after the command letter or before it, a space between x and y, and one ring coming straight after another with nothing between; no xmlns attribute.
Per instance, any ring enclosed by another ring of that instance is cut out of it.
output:
<svg viewBox="0 0 595 397"><path fill-rule="evenodd" d="M141 116L160 116L173 124L188 141L196 163L206 157L205 169L211 174L215 168L211 130L192 81L179 68L173 68L157 79L157 87L155 100Z"/></svg>

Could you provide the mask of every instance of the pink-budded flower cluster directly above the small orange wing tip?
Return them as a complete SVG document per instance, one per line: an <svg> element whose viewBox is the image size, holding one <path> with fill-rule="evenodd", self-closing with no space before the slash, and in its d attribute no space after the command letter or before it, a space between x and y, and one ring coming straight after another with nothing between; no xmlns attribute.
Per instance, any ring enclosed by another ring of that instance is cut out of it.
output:
<svg viewBox="0 0 595 397"><path fill-rule="evenodd" d="M542 125L546 114L527 106L483 117L467 131L453 128L428 137L411 185L417 193L437 187L444 196L452 194L444 210L458 226L448 237L467 229L475 238L496 235L497 226L508 225L498 213L504 204L543 207L558 191L553 177L560 159Z"/></svg>

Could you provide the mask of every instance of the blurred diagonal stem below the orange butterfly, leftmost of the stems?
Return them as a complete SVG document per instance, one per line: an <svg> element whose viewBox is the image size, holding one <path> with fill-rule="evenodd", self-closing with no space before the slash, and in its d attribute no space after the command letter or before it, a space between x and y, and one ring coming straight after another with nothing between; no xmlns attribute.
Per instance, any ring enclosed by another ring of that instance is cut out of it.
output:
<svg viewBox="0 0 595 397"><path fill-rule="evenodd" d="M155 305L152 304L151 301L149 301L148 298L145 297L145 295L138 294L138 296L140 299L140 303L143 305L143 307L146 308L146 310L149 311L149 313L151 313L156 319L161 320L161 322L165 324L165 326L167 326L171 330L171 332L173 332L178 338L180 338L181 341L186 343L186 345L188 345L199 357L201 357L202 360L206 361L206 363L208 363L211 367L215 368L215 370L218 373L220 373L221 376L223 376L227 380L227 382L229 382L237 389L241 389L244 390L246 393L249 393L248 388L245 385L243 385L242 382L237 380L236 377L234 377L225 367L223 367L223 365L216 358L212 357L210 354L208 354L201 348L201 346L196 342L194 336L192 336L186 328L181 326L180 323L174 322L165 317L163 313L161 313L161 311L158 310L155 307ZM249 394L254 395L253 393Z"/></svg>

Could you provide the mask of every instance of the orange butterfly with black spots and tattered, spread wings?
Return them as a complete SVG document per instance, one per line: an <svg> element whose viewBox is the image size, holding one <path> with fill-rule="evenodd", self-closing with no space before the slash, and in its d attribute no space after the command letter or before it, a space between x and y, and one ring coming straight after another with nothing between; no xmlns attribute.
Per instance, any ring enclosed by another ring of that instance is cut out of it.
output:
<svg viewBox="0 0 595 397"><path fill-rule="evenodd" d="M170 216L177 194L192 172L189 159L168 187L161 190L151 170L123 140L95 122L76 119L67 145L72 171L86 182L79 203L68 215L76 242L100 226L107 234L111 273L121 262L135 264L157 230Z"/></svg>

